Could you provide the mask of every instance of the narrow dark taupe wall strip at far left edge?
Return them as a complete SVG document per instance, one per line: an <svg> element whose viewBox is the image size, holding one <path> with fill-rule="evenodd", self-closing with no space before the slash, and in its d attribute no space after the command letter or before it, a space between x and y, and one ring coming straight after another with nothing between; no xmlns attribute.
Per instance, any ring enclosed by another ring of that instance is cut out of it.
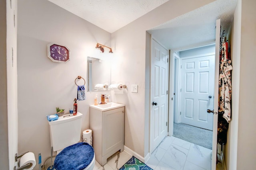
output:
<svg viewBox="0 0 256 170"><path fill-rule="evenodd" d="M0 167L9 168L8 119L7 119L7 72L6 72L6 1L0 1Z"/></svg>

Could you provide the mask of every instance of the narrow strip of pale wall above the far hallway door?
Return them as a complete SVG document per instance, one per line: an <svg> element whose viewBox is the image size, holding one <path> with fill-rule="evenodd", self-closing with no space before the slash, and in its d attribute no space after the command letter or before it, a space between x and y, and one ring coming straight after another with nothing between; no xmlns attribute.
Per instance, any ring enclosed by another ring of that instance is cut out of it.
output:
<svg viewBox="0 0 256 170"><path fill-rule="evenodd" d="M180 58L182 57L191 57L197 55L205 55L208 53L215 53L215 44L214 45L207 45L204 47L198 47L194 49L180 51Z"/></svg>

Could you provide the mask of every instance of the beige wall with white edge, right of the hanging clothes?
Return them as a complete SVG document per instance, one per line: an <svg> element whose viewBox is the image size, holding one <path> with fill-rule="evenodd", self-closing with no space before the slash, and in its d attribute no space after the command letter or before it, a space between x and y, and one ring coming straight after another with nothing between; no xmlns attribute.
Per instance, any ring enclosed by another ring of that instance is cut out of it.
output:
<svg viewBox="0 0 256 170"><path fill-rule="evenodd" d="M238 0L232 21L232 117L225 160L228 170L256 169L255 1Z"/></svg>

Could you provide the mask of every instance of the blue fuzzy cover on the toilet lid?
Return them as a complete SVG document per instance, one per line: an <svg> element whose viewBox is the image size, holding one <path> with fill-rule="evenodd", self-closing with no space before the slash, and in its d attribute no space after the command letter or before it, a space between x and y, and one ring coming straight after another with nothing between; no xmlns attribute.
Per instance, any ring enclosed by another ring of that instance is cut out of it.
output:
<svg viewBox="0 0 256 170"><path fill-rule="evenodd" d="M83 170L94 157L94 149L85 142L64 148L54 160L56 170Z"/></svg>

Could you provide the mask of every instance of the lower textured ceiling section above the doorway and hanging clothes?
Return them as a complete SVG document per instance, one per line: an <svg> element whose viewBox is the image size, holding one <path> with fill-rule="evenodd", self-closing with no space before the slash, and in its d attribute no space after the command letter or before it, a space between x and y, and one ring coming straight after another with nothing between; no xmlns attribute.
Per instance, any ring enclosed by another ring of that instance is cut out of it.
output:
<svg viewBox="0 0 256 170"><path fill-rule="evenodd" d="M216 0L148 30L167 49L181 51L215 41L216 20L228 32L237 0Z"/></svg>

